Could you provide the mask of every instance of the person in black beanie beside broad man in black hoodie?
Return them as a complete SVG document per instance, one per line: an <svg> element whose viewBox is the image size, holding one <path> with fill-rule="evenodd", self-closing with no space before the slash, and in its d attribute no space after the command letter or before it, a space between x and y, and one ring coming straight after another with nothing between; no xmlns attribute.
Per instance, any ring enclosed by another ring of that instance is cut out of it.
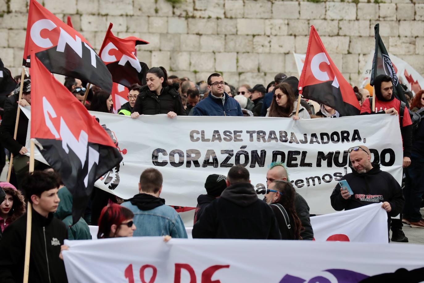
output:
<svg viewBox="0 0 424 283"><path fill-rule="evenodd" d="M194 213L194 223L196 223L205 207L208 206L214 199L219 198L221 193L227 187L227 178L224 175L211 174L206 178L205 189L206 195L200 195L197 198L196 211Z"/></svg>

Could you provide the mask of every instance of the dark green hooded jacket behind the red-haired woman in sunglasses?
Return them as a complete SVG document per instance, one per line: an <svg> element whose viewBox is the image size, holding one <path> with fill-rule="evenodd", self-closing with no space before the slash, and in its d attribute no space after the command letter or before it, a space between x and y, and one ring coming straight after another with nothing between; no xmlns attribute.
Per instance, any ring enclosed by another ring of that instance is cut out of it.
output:
<svg viewBox="0 0 424 283"><path fill-rule="evenodd" d="M69 240L91 240L90 229L86 221L81 217L75 225L72 225L72 194L63 187L57 193L60 199L59 207L54 216L62 220L68 230Z"/></svg>

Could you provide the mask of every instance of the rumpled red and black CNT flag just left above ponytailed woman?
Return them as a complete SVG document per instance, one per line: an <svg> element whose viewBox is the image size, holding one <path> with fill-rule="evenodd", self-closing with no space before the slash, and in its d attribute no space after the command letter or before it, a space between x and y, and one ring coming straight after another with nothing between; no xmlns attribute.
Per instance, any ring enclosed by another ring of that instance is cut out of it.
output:
<svg viewBox="0 0 424 283"><path fill-rule="evenodd" d="M134 36L118 38L112 34L112 26L110 23L99 51L100 58L112 74L112 80L126 87L146 84L149 68L135 56L135 46L149 42Z"/></svg>

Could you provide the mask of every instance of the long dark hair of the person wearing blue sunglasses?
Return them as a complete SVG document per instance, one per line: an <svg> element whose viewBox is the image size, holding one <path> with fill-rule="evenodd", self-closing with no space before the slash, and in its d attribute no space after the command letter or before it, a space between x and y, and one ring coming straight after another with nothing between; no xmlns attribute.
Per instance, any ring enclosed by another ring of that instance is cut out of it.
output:
<svg viewBox="0 0 424 283"><path fill-rule="evenodd" d="M293 235L295 240L301 240L302 237L300 236L300 231L304 228L302 227L302 223L297 216L296 209L294 208L294 198L295 198L295 189L293 185L288 181L274 181L275 187L274 189L276 191L281 192L283 195L280 196L278 202L280 205L282 205L287 213L293 217Z"/></svg>

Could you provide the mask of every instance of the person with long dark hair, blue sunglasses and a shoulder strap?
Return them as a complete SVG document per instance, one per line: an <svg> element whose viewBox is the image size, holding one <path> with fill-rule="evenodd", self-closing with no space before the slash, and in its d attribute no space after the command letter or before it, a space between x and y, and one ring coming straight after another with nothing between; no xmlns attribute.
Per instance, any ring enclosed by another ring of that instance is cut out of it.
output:
<svg viewBox="0 0 424 283"><path fill-rule="evenodd" d="M273 181L268 185L265 201L271 205L283 240L302 240L302 223L294 208L295 189L288 181Z"/></svg>

